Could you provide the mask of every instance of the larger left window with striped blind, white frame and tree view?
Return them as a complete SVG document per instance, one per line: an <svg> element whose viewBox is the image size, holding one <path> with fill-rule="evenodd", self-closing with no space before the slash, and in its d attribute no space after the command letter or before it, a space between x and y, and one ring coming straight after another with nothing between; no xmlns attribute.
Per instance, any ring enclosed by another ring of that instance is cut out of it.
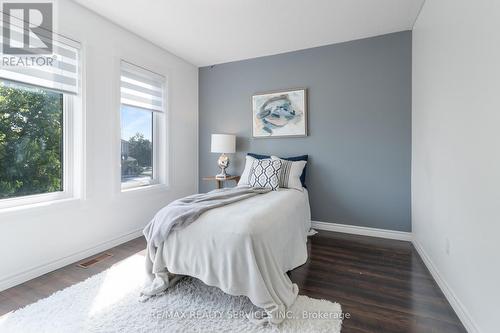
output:
<svg viewBox="0 0 500 333"><path fill-rule="evenodd" d="M0 208L75 194L79 46L58 37L48 57L0 66Z"/></svg>

